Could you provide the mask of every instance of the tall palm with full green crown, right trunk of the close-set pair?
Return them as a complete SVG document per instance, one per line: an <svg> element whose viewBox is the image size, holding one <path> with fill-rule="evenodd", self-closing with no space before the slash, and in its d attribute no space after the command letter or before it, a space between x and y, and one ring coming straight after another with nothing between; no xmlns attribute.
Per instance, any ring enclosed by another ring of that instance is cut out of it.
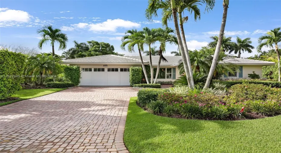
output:
<svg viewBox="0 0 281 153"><path fill-rule="evenodd" d="M162 9L162 24L167 26L168 20L174 21L175 29L176 29L176 35L178 38L179 43L179 49L182 55L182 62L184 63L184 67L187 73L186 77L189 81L189 86L193 88L194 81L191 76L192 70L191 70L191 63L189 58L189 52L186 45L186 39L185 34L183 30L183 23L187 22L188 17L182 17L182 14L184 14L184 10L187 10L190 13L194 13L195 21L197 19L200 19L200 9L198 5L206 4L205 10L210 10L214 7L215 0L150 0L148 8L146 10L146 17L148 19L152 19L152 16L157 16L157 10ZM180 37L180 31L179 31L179 25L177 20L177 13L179 16L179 24L181 28L181 34L182 38ZM184 50L183 50L184 49ZM183 54L184 53L184 54ZM187 67L187 68L186 68Z"/></svg>

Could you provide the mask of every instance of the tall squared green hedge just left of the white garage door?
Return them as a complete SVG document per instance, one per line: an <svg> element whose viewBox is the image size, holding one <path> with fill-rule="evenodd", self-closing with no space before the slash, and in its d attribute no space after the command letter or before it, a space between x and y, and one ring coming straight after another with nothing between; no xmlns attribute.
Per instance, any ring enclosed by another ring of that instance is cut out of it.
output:
<svg viewBox="0 0 281 153"><path fill-rule="evenodd" d="M64 77L74 85L79 85L81 71L79 66L67 66L64 68Z"/></svg>

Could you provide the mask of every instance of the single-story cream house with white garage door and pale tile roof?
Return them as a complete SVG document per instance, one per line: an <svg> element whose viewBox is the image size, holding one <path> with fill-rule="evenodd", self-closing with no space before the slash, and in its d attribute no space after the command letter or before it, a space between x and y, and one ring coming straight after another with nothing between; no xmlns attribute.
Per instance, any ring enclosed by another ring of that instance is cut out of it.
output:
<svg viewBox="0 0 281 153"><path fill-rule="evenodd" d="M142 56L145 65L149 65L149 56ZM177 68L181 56L165 56L168 62L161 61L157 81L174 81L178 78ZM152 56L153 71L156 72L159 56ZM240 69L235 74L228 73L222 78L247 78L248 74L255 71L262 76L262 66L275 65L274 62L251 60L244 58L228 58L224 62L239 65ZM60 64L79 65L81 69L80 85L130 85L129 68L141 67L139 56L102 55L86 58L63 60ZM154 78L155 78L155 73Z"/></svg>

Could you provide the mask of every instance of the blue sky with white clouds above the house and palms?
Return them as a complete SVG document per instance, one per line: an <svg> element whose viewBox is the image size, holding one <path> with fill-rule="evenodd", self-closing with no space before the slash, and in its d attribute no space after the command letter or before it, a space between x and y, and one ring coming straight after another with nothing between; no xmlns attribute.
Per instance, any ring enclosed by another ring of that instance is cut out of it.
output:
<svg viewBox="0 0 281 153"><path fill-rule="evenodd" d="M86 42L95 40L108 42L114 45L115 51L125 55L137 55L120 49L121 36L128 29L141 30L144 27L159 28L161 24L161 12L153 22L147 21L144 16L147 8L147 0L137 1L1 1L0 3L0 44L22 45L36 47L40 36L36 30L43 25L52 24L55 28L61 28L67 34L69 42L67 49L73 47L73 40ZM251 37L253 46L257 46L257 38L267 30L281 27L281 1L270 0L230 0L226 36L241 38ZM216 1L215 8L204 12L201 7L201 20L194 22L192 15L184 24L186 41L189 49L200 49L210 42L210 36L218 35L222 18L222 1ZM174 28L173 23L168 25ZM157 44L156 44L157 46ZM55 53L58 51L55 45ZM165 55L170 55L176 50L174 45L167 45ZM268 48L264 48L268 50ZM51 52L49 44L44 45L40 52ZM242 53L241 57L249 57L257 54Z"/></svg>

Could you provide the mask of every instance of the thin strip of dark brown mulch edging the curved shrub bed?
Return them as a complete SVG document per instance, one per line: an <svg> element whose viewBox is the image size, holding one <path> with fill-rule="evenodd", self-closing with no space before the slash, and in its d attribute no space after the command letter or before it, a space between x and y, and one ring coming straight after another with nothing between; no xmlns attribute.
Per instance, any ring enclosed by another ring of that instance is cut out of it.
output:
<svg viewBox="0 0 281 153"><path fill-rule="evenodd" d="M148 111L148 109L146 107L141 107L141 105L137 102L137 105L144 109L145 111L151 113L150 111ZM153 114L153 113L151 113ZM163 116L163 117L170 117L170 118L181 118L181 119L192 119L192 118L185 118L185 117L182 117L181 115L177 115L177 116L165 116L163 113L160 113L160 114L154 114L154 115L158 115L158 116ZM255 113L246 113L246 117L245 118L228 118L228 119L225 119L224 121L238 121L238 120L249 120L249 119L258 119L258 118L266 118L266 116L263 116L263 115L259 115L259 114L255 114ZM215 120L215 119L212 119L212 118L193 118L193 119L197 119L197 120Z"/></svg>

